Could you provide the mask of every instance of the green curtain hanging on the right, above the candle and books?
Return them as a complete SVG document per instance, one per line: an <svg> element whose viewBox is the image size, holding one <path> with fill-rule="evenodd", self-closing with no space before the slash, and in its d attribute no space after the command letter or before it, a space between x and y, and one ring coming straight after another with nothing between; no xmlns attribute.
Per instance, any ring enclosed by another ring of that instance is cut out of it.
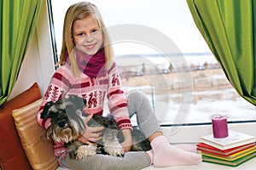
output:
<svg viewBox="0 0 256 170"><path fill-rule="evenodd" d="M238 94L256 105L256 1L187 0L195 24Z"/></svg>

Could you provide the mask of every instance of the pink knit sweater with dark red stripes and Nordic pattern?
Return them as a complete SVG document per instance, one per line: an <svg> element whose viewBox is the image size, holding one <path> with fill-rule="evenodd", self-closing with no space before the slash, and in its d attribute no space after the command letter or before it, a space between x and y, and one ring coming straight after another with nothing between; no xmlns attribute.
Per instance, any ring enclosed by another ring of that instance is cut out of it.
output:
<svg viewBox="0 0 256 170"><path fill-rule="evenodd" d="M85 111L90 114L101 115L103 113L104 98L107 94L108 108L114 120L121 129L132 128L128 114L127 99L124 91L121 90L121 82L118 68L113 63L108 74L103 77L91 78L81 73L79 77L73 77L71 66L61 65L49 82L49 87L44 94L44 100L38 111L38 123L47 128L49 120L40 119L40 114L44 110L44 105L49 102L76 94L86 99Z"/></svg>

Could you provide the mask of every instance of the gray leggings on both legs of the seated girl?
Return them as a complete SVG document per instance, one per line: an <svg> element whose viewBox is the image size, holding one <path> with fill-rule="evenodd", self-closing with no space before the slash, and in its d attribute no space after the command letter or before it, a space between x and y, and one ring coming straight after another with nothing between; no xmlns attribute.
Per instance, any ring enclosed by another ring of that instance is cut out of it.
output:
<svg viewBox="0 0 256 170"><path fill-rule="evenodd" d="M131 91L127 95L130 116L137 115L137 124L146 138L160 130L159 123L149 100L143 92ZM150 160L144 151L126 152L124 157L95 155L84 161L66 158L67 166L72 170L136 170L148 167Z"/></svg>

